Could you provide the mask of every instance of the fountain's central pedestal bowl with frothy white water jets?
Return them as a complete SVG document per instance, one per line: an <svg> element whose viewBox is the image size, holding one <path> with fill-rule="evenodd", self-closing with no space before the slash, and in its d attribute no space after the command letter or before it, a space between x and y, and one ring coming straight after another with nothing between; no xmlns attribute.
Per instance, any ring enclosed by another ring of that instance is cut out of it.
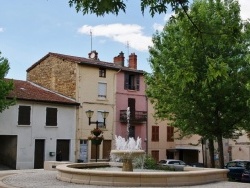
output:
<svg viewBox="0 0 250 188"><path fill-rule="evenodd" d="M141 138L129 138L127 141L121 136L115 136L115 150L111 150L110 155L113 161L121 160L122 171L133 171L132 161L135 157L145 154L141 149Z"/></svg>

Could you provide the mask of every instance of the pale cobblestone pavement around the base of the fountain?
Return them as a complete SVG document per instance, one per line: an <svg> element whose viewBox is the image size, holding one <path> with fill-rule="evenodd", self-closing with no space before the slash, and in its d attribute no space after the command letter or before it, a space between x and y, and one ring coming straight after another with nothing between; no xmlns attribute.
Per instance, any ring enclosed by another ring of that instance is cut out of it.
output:
<svg viewBox="0 0 250 188"><path fill-rule="evenodd" d="M0 171L1 188L110 188L109 186L80 185L56 179L56 171L5 170ZM182 188L249 188L249 183L218 182L206 185L183 186ZM175 187L177 188L177 187ZM180 188L180 187L179 187Z"/></svg>

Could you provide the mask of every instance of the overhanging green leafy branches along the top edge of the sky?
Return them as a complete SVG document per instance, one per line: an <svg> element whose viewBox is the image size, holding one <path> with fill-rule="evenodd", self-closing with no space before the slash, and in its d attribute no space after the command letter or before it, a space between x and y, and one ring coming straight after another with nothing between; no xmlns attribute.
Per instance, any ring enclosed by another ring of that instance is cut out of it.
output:
<svg viewBox="0 0 250 188"><path fill-rule="evenodd" d="M141 0L141 12L144 14L146 9L149 9L151 16L156 13L166 13L167 5L172 7L172 11L179 12L180 9L188 9L189 0ZM69 6L74 6L77 12L85 14L96 14L104 16L105 14L118 15L120 11L126 12L125 0L69 0Z"/></svg>

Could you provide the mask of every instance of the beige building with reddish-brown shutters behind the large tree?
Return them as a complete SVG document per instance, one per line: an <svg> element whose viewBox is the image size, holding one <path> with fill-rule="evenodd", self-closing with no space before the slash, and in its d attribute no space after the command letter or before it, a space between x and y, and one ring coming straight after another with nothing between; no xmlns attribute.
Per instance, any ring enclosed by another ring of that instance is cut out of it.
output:
<svg viewBox="0 0 250 188"><path fill-rule="evenodd" d="M201 143L199 135L179 139L177 129L169 126L169 121L157 121L154 118L153 105L148 102L148 154L157 161L162 159L180 159L195 165L204 163L210 167L208 142ZM215 165L218 166L218 145L214 142ZM223 139L224 163L231 160L250 160L250 135L242 131L242 135L235 139Z"/></svg>

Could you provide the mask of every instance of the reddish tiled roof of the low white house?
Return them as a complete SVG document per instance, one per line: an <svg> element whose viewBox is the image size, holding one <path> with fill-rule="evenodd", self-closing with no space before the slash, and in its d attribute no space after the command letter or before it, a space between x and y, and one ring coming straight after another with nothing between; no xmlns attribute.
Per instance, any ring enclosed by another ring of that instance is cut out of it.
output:
<svg viewBox="0 0 250 188"><path fill-rule="evenodd" d="M10 80L11 79L6 79L6 81ZM14 90L8 95L7 98L76 106L79 105L79 103L75 102L73 99L59 95L32 82L23 80L13 80L13 83Z"/></svg>

